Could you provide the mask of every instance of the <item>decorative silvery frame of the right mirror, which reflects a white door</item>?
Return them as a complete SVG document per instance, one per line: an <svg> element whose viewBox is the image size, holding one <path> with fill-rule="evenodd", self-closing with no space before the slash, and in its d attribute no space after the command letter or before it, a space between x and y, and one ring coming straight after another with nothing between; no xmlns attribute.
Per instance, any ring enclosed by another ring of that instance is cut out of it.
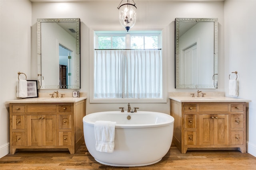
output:
<svg viewBox="0 0 256 170"><path fill-rule="evenodd" d="M213 84L179 84L179 29L180 22L214 22L214 74ZM175 88L218 88L218 18L175 18Z"/></svg>

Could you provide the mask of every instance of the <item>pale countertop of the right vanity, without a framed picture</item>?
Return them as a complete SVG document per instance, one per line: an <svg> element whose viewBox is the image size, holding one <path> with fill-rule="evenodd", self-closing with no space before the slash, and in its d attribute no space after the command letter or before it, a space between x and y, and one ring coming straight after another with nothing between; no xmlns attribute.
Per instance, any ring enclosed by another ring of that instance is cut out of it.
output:
<svg viewBox="0 0 256 170"><path fill-rule="evenodd" d="M191 97L191 96L169 96L169 99L177 102L251 102L247 99L230 98L225 96Z"/></svg>

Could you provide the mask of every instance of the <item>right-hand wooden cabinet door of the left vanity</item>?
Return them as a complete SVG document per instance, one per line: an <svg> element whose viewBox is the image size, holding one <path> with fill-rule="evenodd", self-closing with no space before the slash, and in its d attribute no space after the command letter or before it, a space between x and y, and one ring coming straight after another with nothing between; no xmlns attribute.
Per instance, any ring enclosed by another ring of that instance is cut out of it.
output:
<svg viewBox="0 0 256 170"><path fill-rule="evenodd" d="M56 115L42 115L42 145L56 145Z"/></svg>

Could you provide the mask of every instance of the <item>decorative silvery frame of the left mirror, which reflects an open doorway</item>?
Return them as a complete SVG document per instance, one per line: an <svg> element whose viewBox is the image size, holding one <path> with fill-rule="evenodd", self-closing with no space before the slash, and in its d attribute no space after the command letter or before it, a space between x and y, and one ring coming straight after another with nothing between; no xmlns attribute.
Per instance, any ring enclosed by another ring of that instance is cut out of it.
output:
<svg viewBox="0 0 256 170"><path fill-rule="evenodd" d="M72 84L68 88L63 89L80 89L80 18L40 18L37 19L37 72L38 78L42 80L41 72L41 23L42 22L74 22L76 23L76 77L77 84ZM46 85L45 88L39 87L39 89L60 89L58 85Z"/></svg>

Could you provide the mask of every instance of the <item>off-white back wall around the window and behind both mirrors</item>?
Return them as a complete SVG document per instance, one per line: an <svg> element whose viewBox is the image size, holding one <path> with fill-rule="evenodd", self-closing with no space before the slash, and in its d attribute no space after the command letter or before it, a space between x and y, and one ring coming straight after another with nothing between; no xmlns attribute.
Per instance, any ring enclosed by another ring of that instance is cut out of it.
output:
<svg viewBox="0 0 256 170"><path fill-rule="evenodd" d="M81 92L88 92L89 96L89 49L93 48L89 43L89 30L93 28L120 29L118 20L119 2L114 1L86 1L72 3L32 3L32 63L36 63L36 19L37 18L80 18L81 30ZM163 50L166 66L167 92L178 91L174 88L174 20L175 18L218 18L220 23L219 45L224 44L223 29L223 2L173 2L173 1L138 1L136 24L132 29L159 28L165 29L165 44ZM61 8L60 8L61 7ZM47 12L46 12L47 11ZM167 42L167 43L166 43ZM219 62L224 63L224 49L219 48ZM220 64L221 65L221 64ZM224 74L220 67L219 74ZM35 69L36 71L36 69ZM37 74L34 72L34 78ZM220 83L217 91L224 91L224 79L219 76ZM44 90L45 91L45 90ZM44 92L40 90L40 92ZM59 90L61 91L61 90ZM182 91L182 90L179 90ZM183 91L195 91L187 90ZM216 91L216 90L215 90ZM51 91L50 91L51 92ZM140 110L161 111L170 113L169 100L167 103L158 104L131 104L132 107L140 107ZM86 113L96 111L117 110L118 107L127 107L127 104L90 104L87 100Z"/></svg>

